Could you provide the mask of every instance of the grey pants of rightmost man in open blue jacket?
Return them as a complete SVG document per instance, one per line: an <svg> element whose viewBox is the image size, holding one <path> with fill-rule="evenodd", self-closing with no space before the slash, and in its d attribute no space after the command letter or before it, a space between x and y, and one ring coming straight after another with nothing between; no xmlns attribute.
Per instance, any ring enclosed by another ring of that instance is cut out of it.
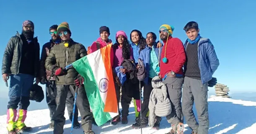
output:
<svg viewBox="0 0 256 134"><path fill-rule="evenodd" d="M208 134L208 84L202 84L201 80L185 77L182 92L182 112L190 129L198 134ZM193 104L197 109L199 124L193 113Z"/></svg>

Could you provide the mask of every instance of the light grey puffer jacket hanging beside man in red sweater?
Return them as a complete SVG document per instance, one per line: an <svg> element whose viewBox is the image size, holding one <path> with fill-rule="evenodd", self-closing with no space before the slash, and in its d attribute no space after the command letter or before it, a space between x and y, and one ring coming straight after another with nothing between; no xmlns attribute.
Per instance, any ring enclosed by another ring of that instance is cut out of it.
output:
<svg viewBox="0 0 256 134"><path fill-rule="evenodd" d="M153 90L150 93L149 100L149 121L148 125L153 126L155 124L155 117L164 117L171 114L171 102L167 96L166 85L163 84L162 80L155 76L152 79Z"/></svg>

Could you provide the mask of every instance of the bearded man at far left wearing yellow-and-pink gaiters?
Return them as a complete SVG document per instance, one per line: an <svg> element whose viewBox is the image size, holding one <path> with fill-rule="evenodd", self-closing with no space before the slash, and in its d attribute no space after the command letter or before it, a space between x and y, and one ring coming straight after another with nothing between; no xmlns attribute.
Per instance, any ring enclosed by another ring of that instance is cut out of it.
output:
<svg viewBox="0 0 256 134"><path fill-rule="evenodd" d="M8 134L32 130L24 124L24 121L30 104L30 88L39 72L39 58L40 46L37 37L34 38L34 23L24 21L22 33L19 34L17 31L16 36L10 38L3 54L2 77L5 82L10 77L7 106ZM19 111L16 110L18 104Z"/></svg>

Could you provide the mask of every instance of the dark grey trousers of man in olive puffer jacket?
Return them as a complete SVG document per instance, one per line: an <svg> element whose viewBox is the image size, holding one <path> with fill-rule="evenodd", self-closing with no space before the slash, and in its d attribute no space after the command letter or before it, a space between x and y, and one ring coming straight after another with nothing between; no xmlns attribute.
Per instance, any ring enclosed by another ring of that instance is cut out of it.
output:
<svg viewBox="0 0 256 134"><path fill-rule="evenodd" d="M56 112L52 116L54 120L54 134L63 134L63 126L65 125L65 104L67 94L70 91L75 96L75 85L56 85ZM81 114L82 128L83 131L90 131L92 129L93 113L91 113L89 101L85 93L84 86L78 88L76 106Z"/></svg>

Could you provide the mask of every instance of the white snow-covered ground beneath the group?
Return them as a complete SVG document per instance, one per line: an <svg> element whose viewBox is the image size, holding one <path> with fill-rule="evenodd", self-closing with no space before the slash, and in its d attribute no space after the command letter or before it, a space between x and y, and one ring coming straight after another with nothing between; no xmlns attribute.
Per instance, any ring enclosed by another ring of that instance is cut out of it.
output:
<svg viewBox="0 0 256 134"><path fill-rule="evenodd" d="M209 134L253 134L256 132L256 102L233 100L230 98L221 98L211 96L209 102ZM121 107L121 106L120 106ZM193 109L194 111L195 108ZM133 105L129 109L129 123L123 125L121 123L113 126L105 124L103 126L93 126L93 131L96 134L140 134L140 129L134 130L131 128L134 123L135 113ZM67 113L67 112L66 112ZM52 134L49 126L49 110L28 111L28 117L25 121L27 126L32 126L33 131L22 134ZM197 116L197 115L196 115ZM67 114L66 124L64 126L64 134L70 134L71 121ZM143 134L164 134L170 130L170 124L165 118L161 121L158 131L143 128ZM0 116L0 133L7 134L6 130L6 115ZM83 134L82 129L74 129L73 134ZM184 134L191 134L191 130L185 122Z"/></svg>

